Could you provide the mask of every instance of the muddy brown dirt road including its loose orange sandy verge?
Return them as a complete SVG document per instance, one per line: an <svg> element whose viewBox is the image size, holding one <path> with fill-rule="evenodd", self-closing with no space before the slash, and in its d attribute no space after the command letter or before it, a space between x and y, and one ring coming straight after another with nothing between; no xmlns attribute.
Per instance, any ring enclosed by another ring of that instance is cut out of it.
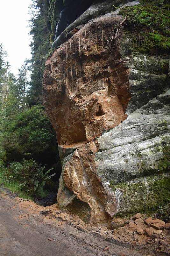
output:
<svg viewBox="0 0 170 256"><path fill-rule="evenodd" d="M0 256L167 255L155 254L154 243L134 246L102 236L100 229L57 204L42 207L0 191Z"/></svg>

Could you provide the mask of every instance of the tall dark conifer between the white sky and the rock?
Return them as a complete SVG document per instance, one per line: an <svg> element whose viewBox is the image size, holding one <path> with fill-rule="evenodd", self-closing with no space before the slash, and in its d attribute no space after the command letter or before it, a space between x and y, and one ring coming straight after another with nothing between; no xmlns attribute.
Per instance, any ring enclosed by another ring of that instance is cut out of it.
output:
<svg viewBox="0 0 170 256"><path fill-rule="evenodd" d="M27 102L29 105L41 104L42 102L42 76L45 68L45 61L50 51L50 24L47 22L46 13L48 9L48 1L32 0L32 18L31 31L32 35L30 60L32 72L29 91L27 92ZM48 27L48 28L47 28Z"/></svg>

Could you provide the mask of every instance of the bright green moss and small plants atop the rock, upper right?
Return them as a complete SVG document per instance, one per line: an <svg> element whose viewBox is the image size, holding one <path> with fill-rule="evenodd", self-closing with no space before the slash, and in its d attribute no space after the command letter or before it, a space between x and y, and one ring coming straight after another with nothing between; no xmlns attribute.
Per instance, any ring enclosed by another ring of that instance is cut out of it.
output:
<svg viewBox="0 0 170 256"><path fill-rule="evenodd" d="M163 52L170 50L170 11L167 1L141 0L139 5L124 7L125 29L133 32L132 52Z"/></svg>

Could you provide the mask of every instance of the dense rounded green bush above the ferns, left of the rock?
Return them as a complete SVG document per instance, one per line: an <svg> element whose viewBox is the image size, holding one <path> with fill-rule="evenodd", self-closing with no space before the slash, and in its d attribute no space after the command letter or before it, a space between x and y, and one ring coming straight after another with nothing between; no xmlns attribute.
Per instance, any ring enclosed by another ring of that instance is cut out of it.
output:
<svg viewBox="0 0 170 256"><path fill-rule="evenodd" d="M16 152L33 156L51 147L54 139L50 121L42 106L15 111L15 99L9 100L6 118L1 119L0 143L5 148L4 161L8 161L8 153ZM7 157L7 159L5 159Z"/></svg>

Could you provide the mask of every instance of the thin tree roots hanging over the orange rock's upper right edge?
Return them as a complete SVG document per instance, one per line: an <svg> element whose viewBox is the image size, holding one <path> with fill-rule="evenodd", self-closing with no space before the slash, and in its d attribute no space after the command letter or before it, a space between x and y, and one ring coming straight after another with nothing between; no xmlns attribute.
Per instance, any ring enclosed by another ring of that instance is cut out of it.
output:
<svg viewBox="0 0 170 256"><path fill-rule="evenodd" d="M111 53L113 52L114 48L117 46L119 43L119 38L122 35L123 32L123 23L126 20L126 17L122 22L118 25L117 28L114 28L113 34L108 38L106 48L109 50Z"/></svg>

